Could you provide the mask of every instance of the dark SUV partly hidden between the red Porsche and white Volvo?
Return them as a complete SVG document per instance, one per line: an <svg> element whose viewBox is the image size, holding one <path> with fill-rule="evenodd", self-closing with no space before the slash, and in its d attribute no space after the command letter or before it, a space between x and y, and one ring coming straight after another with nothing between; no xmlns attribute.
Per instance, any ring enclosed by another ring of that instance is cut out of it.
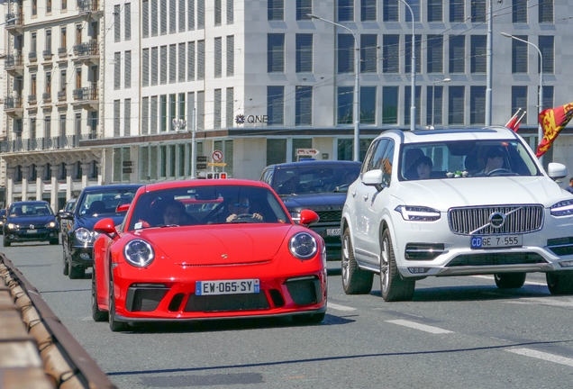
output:
<svg viewBox="0 0 573 389"><path fill-rule="evenodd" d="M265 167L260 181L280 196L295 222L309 209L320 220L310 226L323 237L329 260L341 259L341 216L348 187L359 176L360 162L301 161Z"/></svg>

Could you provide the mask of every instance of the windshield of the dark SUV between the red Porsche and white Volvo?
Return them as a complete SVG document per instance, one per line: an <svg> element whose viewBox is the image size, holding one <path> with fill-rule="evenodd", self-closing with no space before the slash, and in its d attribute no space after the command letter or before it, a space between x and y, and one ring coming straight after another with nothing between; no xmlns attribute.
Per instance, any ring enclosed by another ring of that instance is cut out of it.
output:
<svg viewBox="0 0 573 389"><path fill-rule="evenodd" d="M280 167L275 173L273 189L277 195L347 192L359 174L360 166L355 164Z"/></svg>

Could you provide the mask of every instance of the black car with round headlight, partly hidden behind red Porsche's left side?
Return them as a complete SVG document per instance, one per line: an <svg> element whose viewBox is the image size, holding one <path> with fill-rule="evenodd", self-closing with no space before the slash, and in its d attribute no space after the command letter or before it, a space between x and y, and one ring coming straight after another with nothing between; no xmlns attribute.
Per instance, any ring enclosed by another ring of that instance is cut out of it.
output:
<svg viewBox="0 0 573 389"><path fill-rule="evenodd" d="M93 247L98 235L94 225L105 218L113 219L115 225L121 224L126 211L118 212L118 208L132 203L140 186L88 186L77 197L71 212L59 213L62 222L68 222L66 231L62 231L64 276L74 279L86 275L86 268L94 263Z"/></svg>

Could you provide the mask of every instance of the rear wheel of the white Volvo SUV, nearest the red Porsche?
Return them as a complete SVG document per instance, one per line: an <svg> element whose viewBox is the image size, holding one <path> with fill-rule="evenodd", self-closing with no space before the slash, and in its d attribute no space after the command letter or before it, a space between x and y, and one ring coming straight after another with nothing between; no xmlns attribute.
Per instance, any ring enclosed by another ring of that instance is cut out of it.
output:
<svg viewBox="0 0 573 389"><path fill-rule="evenodd" d="M342 288L345 294L369 294L372 290L374 274L362 270L356 263L350 231L346 229L342 237Z"/></svg>

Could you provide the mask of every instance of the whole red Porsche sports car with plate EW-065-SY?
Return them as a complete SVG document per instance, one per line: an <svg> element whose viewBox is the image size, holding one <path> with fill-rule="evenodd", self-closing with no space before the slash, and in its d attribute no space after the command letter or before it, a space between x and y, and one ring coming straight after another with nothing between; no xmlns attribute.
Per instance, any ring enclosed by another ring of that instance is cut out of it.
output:
<svg viewBox="0 0 573 389"><path fill-rule="evenodd" d="M125 207L127 207L126 205ZM277 194L248 180L141 186L120 225L96 223L92 314L113 331L138 321L326 312L326 249Z"/></svg>

